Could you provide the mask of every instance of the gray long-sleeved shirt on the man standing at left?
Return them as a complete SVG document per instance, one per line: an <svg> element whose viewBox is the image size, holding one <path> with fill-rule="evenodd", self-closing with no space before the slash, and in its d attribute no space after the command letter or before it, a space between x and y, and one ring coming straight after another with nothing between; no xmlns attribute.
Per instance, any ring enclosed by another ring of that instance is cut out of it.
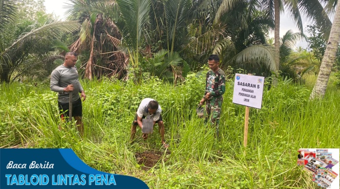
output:
<svg viewBox="0 0 340 189"><path fill-rule="evenodd" d="M77 101L80 96L79 92L84 89L78 80L78 72L76 67L67 68L64 65L58 66L51 73L50 88L54 92L58 92L59 102L69 102L69 93L64 92L64 88L73 85L72 101Z"/></svg>

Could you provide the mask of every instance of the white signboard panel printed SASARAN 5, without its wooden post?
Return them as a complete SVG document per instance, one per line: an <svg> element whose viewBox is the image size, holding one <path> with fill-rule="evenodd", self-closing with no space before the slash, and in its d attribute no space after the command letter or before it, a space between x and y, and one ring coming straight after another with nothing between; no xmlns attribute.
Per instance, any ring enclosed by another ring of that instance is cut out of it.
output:
<svg viewBox="0 0 340 189"><path fill-rule="evenodd" d="M261 109L264 77L236 73L233 103Z"/></svg>

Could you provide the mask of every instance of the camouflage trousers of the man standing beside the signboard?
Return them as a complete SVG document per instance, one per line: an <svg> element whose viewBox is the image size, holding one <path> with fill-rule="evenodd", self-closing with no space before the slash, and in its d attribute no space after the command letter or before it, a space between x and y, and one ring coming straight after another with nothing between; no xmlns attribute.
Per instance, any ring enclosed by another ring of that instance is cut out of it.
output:
<svg viewBox="0 0 340 189"><path fill-rule="evenodd" d="M221 107L222 107L223 97L212 97L210 100L205 102L205 120L207 123L208 120L211 126L216 127L216 135L219 135L219 123L221 117Z"/></svg>

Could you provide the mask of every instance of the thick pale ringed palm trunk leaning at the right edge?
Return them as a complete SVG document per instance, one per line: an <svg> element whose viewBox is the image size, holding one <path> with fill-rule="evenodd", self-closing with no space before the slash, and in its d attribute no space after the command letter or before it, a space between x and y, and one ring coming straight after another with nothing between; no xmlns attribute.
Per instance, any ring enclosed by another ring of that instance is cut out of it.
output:
<svg viewBox="0 0 340 189"><path fill-rule="evenodd" d="M328 43L324 52L323 60L321 62L320 71L316 80L315 86L310 94L309 99L323 98L331 73L331 69L335 62L335 56L338 51L340 42L340 0L338 0L334 20L329 34Z"/></svg>

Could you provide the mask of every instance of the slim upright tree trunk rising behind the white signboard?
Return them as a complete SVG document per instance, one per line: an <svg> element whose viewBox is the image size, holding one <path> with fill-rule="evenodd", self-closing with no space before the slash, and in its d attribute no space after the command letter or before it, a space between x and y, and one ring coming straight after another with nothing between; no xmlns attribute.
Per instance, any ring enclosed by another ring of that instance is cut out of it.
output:
<svg viewBox="0 0 340 189"><path fill-rule="evenodd" d="M272 84L276 86L278 83L279 76L279 65L280 65L280 0L274 0L274 14L275 14L275 28L274 28L274 46L276 50L275 56L275 75L273 77Z"/></svg>

